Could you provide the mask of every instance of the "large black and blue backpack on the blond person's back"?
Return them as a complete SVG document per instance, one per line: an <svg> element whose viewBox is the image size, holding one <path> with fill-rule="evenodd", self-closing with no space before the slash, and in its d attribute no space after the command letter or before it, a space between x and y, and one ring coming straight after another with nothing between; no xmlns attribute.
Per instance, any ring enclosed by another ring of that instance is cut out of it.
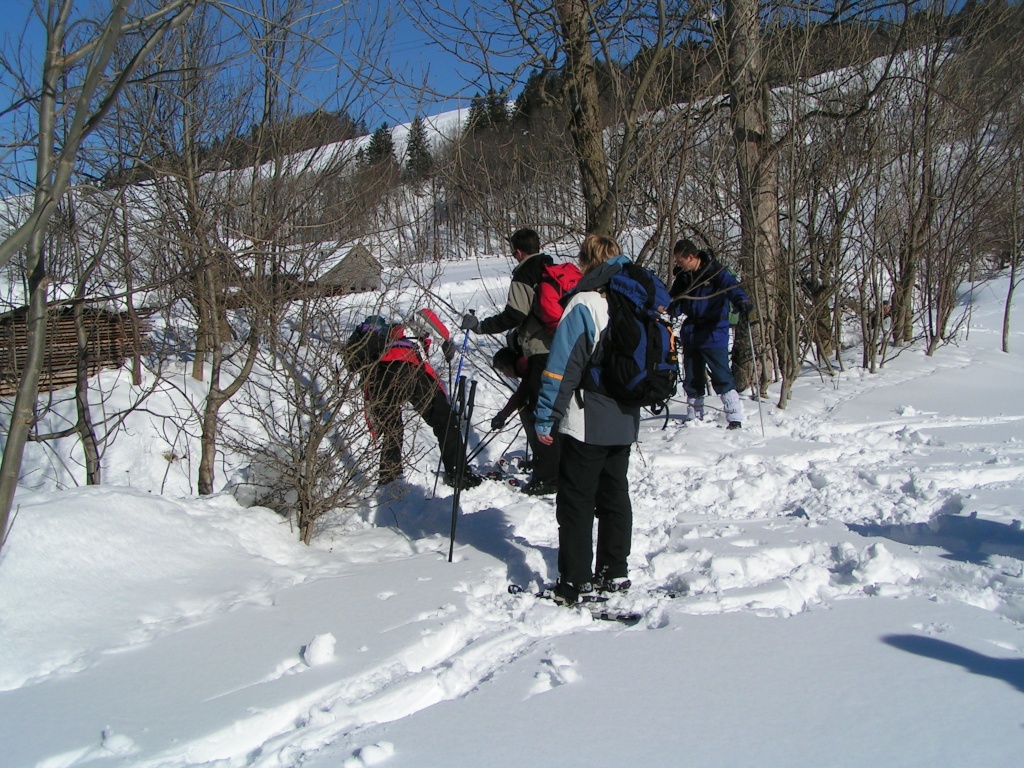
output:
<svg viewBox="0 0 1024 768"><path fill-rule="evenodd" d="M679 356L672 325L663 317L669 290L649 269L626 263L608 281L608 328L584 388L624 406L655 412L676 393Z"/></svg>

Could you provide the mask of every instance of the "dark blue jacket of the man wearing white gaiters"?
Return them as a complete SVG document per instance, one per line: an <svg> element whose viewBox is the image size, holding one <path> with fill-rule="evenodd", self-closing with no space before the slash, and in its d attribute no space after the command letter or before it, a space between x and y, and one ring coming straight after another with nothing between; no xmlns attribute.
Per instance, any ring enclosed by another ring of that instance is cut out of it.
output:
<svg viewBox="0 0 1024 768"><path fill-rule="evenodd" d="M692 272L676 271L669 312L686 315L679 334L683 349L715 349L729 346L729 303L739 311L750 298L736 275L707 253Z"/></svg>

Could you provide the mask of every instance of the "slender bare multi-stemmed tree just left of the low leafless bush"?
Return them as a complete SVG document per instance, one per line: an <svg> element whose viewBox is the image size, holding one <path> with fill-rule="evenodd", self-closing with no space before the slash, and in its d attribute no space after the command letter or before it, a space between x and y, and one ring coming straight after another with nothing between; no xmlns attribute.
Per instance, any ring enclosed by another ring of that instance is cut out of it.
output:
<svg viewBox="0 0 1024 768"><path fill-rule="evenodd" d="M178 76L143 84L148 102L167 103L148 129L161 151L144 174L161 200L158 237L173 257L159 268L169 280L185 276L178 284L195 316L193 377L209 382L197 414L201 494L215 487L222 409L250 381L263 346L274 353L275 328L303 299L308 281L299 272L312 265L305 244L350 220L326 193L354 168L354 153L317 148L324 137L313 134L329 120L297 119L308 57L353 19L333 2L266 0L233 23L197 15L168 51ZM229 79L217 63L228 57ZM349 97L361 93L354 78L347 87ZM229 138L218 142L225 127Z"/></svg>

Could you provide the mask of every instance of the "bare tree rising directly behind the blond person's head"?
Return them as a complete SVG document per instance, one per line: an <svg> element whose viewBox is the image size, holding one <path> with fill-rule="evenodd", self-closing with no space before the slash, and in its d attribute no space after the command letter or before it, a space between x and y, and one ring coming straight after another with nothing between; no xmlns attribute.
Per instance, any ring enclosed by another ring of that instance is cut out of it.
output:
<svg viewBox="0 0 1024 768"><path fill-rule="evenodd" d="M673 130L668 118L644 121L664 95L655 93L658 74L696 24L687 5L508 0L475 4L464 13L420 0L415 7L427 34L458 47L478 68L485 90L507 93L528 73L539 73L532 108L561 114L555 125L568 135L582 198L581 220L565 224L577 232L612 233L622 227L624 190L657 151L652 136ZM541 127L531 124L534 131ZM547 138L534 135L535 141Z"/></svg>

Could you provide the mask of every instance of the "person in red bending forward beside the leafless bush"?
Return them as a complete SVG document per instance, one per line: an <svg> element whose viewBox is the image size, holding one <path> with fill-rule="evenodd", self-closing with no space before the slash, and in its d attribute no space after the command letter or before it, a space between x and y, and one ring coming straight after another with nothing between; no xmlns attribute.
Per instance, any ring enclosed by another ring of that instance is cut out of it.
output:
<svg viewBox="0 0 1024 768"><path fill-rule="evenodd" d="M447 329L430 310L421 310L420 315L441 335L441 349L451 359L455 348ZM362 379L367 423L380 440L379 485L401 478L406 404L413 407L437 438L445 483L459 481L463 488L480 484L480 477L469 470L459 473L465 445L444 388L428 361L430 347L428 334L407 336L403 324L388 324L378 315L367 317L345 345L346 365Z"/></svg>

